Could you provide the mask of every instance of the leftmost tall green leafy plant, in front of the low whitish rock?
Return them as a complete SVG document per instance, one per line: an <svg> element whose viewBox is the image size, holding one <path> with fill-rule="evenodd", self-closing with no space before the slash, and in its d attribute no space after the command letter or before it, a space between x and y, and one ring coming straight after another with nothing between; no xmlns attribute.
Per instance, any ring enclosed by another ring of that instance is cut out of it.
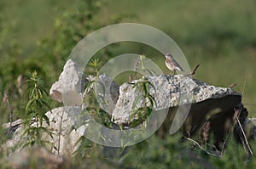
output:
<svg viewBox="0 0 256 169"><path fill-rule="evenodd" d="M53 139L53 133L43 125L46 122L49 126L49 118L45 115L45 112L46 110L50 110L50 107L45 99L48 93L44 87L41 87L39 81L38 73L34 71L28 80L28 82L32 83L32 87L28 89L29 101L26 104L26 130L23 132L23 135L27 136L27 142L23 147L33 144L43 146L49 144L50 147L53 147L53 144L49 140L42 139L44 133Z"/></svg>

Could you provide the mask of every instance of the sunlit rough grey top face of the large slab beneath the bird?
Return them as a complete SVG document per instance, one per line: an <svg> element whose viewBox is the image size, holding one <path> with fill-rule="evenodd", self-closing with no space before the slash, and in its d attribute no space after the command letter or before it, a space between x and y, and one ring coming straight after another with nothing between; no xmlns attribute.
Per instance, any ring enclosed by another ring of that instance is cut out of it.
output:
<svg viewBox="0 0 256 169"><path fill-rule="evenodd" d="M169 109L180 104L198 104L207 99L218 100L227 96L232 96L237 100L237 103L241 101L241 94L236 93L230 88L214 87L205 82L192 79L189 76L161 75L147 76L146 79L154 85L154 88L150 87L150 94L153 95L156 103L154 110ZM116 123L131 123L132 105L137 95L142 94L138 92L134 84L141 81L143 80L125 83L119 87L119 100L113 110L113 119ZM138 103L137 108L142 107L142 100ZM227 104L228 106L230 105Z"/></svg>

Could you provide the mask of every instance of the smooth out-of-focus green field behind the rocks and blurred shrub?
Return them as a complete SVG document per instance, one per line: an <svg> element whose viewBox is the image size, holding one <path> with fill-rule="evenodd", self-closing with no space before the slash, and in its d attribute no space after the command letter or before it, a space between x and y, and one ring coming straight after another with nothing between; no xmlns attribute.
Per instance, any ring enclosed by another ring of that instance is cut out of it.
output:
<svg viewBox="0 0 256 169"><path fill-rule="evenodd" d="M16 51L17 54L10 54L8 59L15 59L17 64L32 59L37 66L31 65L30 69L41 68L47 64L54 65L55 63L48 63L47 61L42 63L42 57L49 58L48 61L50 62L50 58L55 57L55 54L50 54L52 49L49 49L49 53L45 51L48 48L44 48L44 45L40 46L39 43L45 38L48 38L49 41L54 38L61 39L61 37L55 36L55 32L60 29L58 28L58 21L65 22L65 14L75 13L81 1L1 1L4 24L11 26L8 34L3 37L4 42L2 43L4 46L10 46L11 49L9 50L15 50L15 47L19 48ZM190 67L198 63L201 64L196 78L220 87L227 87L231 83L236 83L235 89L243 93L242 102L247 104L247 108L252 114L256 112L255 105L251 105L255 104L256 100L256 80L253 78L256 72L255 1L110 0L96 2L100 5L96 19L94 19L99 22L96 28L113 22L137 22L154 26L166 32L183 50ZM95 30L91 27L82 35L86 36ZM15 47L11 46L14 44L9 43L15 43ZM72 46L72 44L76 43L70 44L69 48L73 48L74 45ZM42 48L44 54L41 54ZM3 52L4 49L2 48ZM67 59L69 52L70 50L67 50L66 53L63 53L66 55L61 56L61 59ZM123 54L125 52L129 51L124 50ZM143 53L145 52L141 48L137 48L137 54ZM3 58L1 55L0 57ZM155 57L154 60L157 63L164 62L161 57ZM1 72L9 67L3 60L0 64ZM47 87L57 79L58 73L61 72L61 65L63 62L60 66L56 66L56 72L52 73L54 76L45 75L44 80L48 82ZM14 74L15 76L26 74L27 71L32 70L22 69ZM6 88L1 89L2 93L6 90Z"/></svg>

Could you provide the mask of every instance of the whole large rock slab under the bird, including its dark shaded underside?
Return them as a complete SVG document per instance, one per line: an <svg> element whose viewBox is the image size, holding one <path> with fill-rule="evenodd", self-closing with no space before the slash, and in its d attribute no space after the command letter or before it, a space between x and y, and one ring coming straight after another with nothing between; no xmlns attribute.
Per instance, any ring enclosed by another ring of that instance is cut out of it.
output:
<svg viewBox="0 0 256 169"><path fill-rule="evenodd" d="M224 136L232 124L234 108L241 103L241 95L230 88L214 87L189 76L147 76L154 85L150 94L154 96L157 106L154 110L169 109L166 120L157 131L164 138L169 133L177 109L191 104L189 115L183 123L183 135L186 138L201 135L199 133L206 122L209 132L214 135L215 146L222 149ZM139 82L134 81L133 83ZM132 121L132 104L139 93L137 87L125 83L119 87L119 100L113 110L114 122L129 126ZM139 102L137 107L142 107ZM149 106L149 105L148 105ZM179 112L181 113L181 112ZM207 133L209 134L209 133ZM201 139L201 138L200 138ZM198 138L197 138L198 140Z"/></svg>

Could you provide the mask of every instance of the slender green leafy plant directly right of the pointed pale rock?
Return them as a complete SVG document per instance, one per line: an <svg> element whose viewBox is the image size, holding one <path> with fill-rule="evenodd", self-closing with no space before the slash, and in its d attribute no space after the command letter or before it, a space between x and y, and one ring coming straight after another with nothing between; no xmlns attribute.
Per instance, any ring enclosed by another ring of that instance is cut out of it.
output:
<svg viewBox="0 0 256 169"><path fill-rule="evenodd" d="M94 80L87 82L84 87L84 110L80 112L79 122L75 128L81 127L82 125L88 123L88 120L91 120L88 118L93 118L104 127L111 128L113 125L111 116L108 114L108 112L102 110L101 108L101 106L107 104L105 103L104 99L105 86L99 79L99 67L101 66L101 61L99 59L92 59L89 65L91 68L93 68L96 76ZM101 130L101 127L97 128L96 130ZM106 136L102 135L102 132L98 133L99 139L108 139ZM89 150L91 143L83 136L77 141L77 144L79 143L79 149L75 153L84 156L84 153Z"/></svg>

